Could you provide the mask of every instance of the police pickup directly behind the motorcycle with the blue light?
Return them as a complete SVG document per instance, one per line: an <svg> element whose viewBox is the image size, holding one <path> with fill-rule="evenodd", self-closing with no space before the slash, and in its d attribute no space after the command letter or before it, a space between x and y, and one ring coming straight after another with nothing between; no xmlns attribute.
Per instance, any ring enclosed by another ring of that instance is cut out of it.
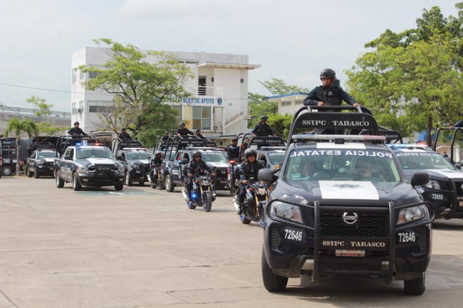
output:
<svg viewBox="0 0 463 308"><path fill-rule="evenodd" d="M201 152L202 160L213 166L216 177L214 190L228 190L227 186L227 153L217 148L214 142L199 138L182 138L173 140L169 148L165 149L165 159L162 161L161 176L167 191L172 192L175 186L184 186L184 159L193 160L194 152ZM183 176L182 176L183 174Z"/></svg>

